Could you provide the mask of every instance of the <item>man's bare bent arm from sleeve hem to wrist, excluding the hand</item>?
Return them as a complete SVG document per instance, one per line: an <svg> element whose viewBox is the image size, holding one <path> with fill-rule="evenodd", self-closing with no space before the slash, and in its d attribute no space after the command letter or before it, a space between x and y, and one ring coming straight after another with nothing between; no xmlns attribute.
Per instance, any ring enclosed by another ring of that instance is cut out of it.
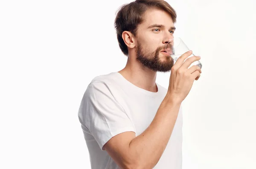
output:
<svg viewBox="0 0 256 169"><path fill-rule="evenodd" d="M151 169L162 156L171 137L181 101L166 95L148 128L139 136L123 132L104 146L122 169Z"/></svg>

